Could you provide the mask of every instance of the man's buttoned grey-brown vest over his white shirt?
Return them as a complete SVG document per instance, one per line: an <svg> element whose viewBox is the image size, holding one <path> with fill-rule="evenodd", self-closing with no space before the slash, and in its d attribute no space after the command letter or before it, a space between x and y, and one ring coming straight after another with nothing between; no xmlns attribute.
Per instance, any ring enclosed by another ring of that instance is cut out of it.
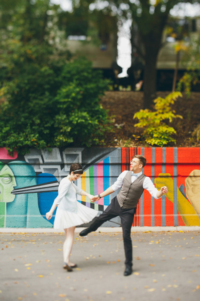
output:
<svg viewBox="0 0 200 301"><path fill-rule="evenodd" d="M117 195L120 207L123 209L136 208L139 198L144 191L143 183L145 178L146 176L142 174L131 183L131 171L127 172L123 179L121 190Z"/></svg>

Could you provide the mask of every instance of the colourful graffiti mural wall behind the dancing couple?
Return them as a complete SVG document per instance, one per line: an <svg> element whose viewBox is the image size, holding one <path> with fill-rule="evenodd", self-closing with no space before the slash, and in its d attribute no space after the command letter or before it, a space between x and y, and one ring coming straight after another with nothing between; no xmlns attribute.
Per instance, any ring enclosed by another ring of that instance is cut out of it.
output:
<svg viewBox="0 0 200 301"><path fill-rule="evenodd" d="M200 226L200 149L176 147L53 148L32 149L13 157L0 148L0 227L52 228L54 217L46 212L58 195L58 185L69 174L72 163L82 164L84 173L75 184L96 195L111 186L118 175L130 169L134 154L147 159L143 170L155 186L168 187L168 193L156 200L144 191L133 225ZM101 213L115 193L95 203L78 195L78 201ZM114 218L103 226L120 226Z"/></svg>

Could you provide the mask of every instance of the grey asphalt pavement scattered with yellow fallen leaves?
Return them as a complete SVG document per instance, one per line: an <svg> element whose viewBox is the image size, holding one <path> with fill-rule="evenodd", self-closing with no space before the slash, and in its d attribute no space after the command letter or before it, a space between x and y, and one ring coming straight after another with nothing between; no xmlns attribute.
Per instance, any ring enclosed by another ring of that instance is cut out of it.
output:
<svg viewBox="0 0 200 301"><path fill-rule="evenodd" d="M62 269L64 233L0 233L0 300L200 300L199 230L132 232L124 276L122 233L102 229L80 237L76 228L73 272Z"/></svg>

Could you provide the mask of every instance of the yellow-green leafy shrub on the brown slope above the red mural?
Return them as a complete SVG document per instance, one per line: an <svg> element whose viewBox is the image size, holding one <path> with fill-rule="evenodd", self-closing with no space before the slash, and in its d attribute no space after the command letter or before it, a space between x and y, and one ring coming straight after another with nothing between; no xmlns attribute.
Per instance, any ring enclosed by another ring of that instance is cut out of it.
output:
<svg viewBox="0 0 200 301"><path fill-rule="evenodd" d="M158 97L154 100L155 111L145 109L134 114L133 119L139 120L134 126L143 129L142 136L146 143L162 147L169 142L175 142L173 135L176 131L166 122L172 123L173 119L183 118L181 115L175 115L171 108L179 96L182 97L181 92L173 92L166 98Z"/></svg>

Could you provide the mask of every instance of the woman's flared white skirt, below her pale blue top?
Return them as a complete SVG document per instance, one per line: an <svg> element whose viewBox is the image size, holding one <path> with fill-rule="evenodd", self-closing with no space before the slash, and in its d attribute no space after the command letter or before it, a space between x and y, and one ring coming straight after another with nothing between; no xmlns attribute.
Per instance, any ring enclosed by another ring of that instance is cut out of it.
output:
<svg viewBox="0 0 200 301"><path fill-rule="evenodd" d="M53 224L54 229L67 229L73 226L86 224L97 216L98 211L77 201L77 213L67 210L59 209L57 207L55 213L55 220Z"/></svg>

